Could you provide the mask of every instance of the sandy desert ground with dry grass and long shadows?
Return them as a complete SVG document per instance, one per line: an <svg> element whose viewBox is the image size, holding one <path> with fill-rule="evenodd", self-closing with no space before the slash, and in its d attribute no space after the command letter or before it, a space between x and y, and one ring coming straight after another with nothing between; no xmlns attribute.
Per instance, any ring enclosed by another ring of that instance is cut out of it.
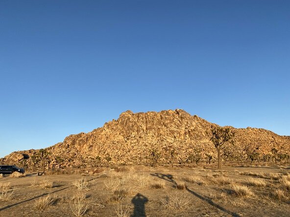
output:
<svg viewBox="0 0 290 217"><path fill-rule="evenodd" d="M0 178L1 217L289 217L290 166L123 166Z"/></svg>

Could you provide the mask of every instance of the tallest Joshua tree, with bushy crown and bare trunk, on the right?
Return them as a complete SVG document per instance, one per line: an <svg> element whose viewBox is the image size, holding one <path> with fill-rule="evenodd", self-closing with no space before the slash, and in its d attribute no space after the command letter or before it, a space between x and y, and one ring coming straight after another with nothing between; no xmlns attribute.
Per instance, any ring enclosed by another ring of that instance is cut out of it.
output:
<svg viewBox="0 0 290 217"><path fill-rule="evenodd" d="M221 127L213 127L212 128L212 138L211 141L214 143L217 149L217 161L218 166L217 169L221 169L220 162L220 148L226 142L233 142L233 138L235 136L235 132L232 132L229 128L221 128Z"/></svg>

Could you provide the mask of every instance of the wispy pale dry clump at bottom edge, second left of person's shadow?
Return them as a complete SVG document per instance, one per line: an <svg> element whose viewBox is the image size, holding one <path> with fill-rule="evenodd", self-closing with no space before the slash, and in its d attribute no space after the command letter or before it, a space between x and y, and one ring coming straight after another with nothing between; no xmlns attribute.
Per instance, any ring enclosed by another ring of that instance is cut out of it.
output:
<svg viewBox="0 0 290 217"><path fill-rule="evenodd" d="M88 205L86 204L85 199L86 195L84 193L78 192L77 194L73 195L73 202L70 201L70 207L73 215L81 217L87 212Z"/></svg>

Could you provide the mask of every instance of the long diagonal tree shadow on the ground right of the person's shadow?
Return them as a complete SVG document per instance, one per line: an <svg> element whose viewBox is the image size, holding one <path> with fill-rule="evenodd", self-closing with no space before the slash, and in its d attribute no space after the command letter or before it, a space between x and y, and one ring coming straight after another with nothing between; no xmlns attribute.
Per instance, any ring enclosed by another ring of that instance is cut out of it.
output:
<svg viewBox="0 0 290 217"><path fill-rule="evenodd" d="M150 175L153 175L153 176L157 176L159 178L162 178L164 180L167 180L169 182L172 182L173 184L176 184L176 181L173 179L173 175L170 175L170 174L160 174L160 173L155 173L155 174L150 174ZM212 201L210 198L206 198L202 195L199 195L197 194L196 192L194 192L193 190L189 189L187 186L186 186L186 190L193 194L194 196L198 197L199 199L207 202L208 204L210 204L211 206L219 209L220 211L223 211L233 217L241 217L239 214L237 213L233 213L233 212L230 212L229 210L225 209L224 207L218 205L217 203L215 203L214 201Z"/></svg>

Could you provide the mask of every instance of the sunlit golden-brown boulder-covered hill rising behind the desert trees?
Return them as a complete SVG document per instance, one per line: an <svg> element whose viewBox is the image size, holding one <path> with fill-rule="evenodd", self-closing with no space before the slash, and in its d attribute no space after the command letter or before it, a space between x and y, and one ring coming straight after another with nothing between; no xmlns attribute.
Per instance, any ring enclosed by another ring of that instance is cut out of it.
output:
<svg viewBox="0 0 290 217"><path fill-rule="evenodd" d="M51 166L57 166L56 157L62 158L62 166L96 166L110 161L115 165L147 164L155 150L160 163L169 163L174 150L174 162L184 163L200 156L213 159L217 153L211 139L211 128L216 126L184 110L160 112L125 111L118 120L105 123L91 132L67 136L47 150ZM235 142L223 149L223 157L229 160L280 160L290 155L290 136L280 136L269 130L235 129ZM31 165L31 155L38 150L13 152L1 159L2 163L21 164L25 158Z"/></svg>

